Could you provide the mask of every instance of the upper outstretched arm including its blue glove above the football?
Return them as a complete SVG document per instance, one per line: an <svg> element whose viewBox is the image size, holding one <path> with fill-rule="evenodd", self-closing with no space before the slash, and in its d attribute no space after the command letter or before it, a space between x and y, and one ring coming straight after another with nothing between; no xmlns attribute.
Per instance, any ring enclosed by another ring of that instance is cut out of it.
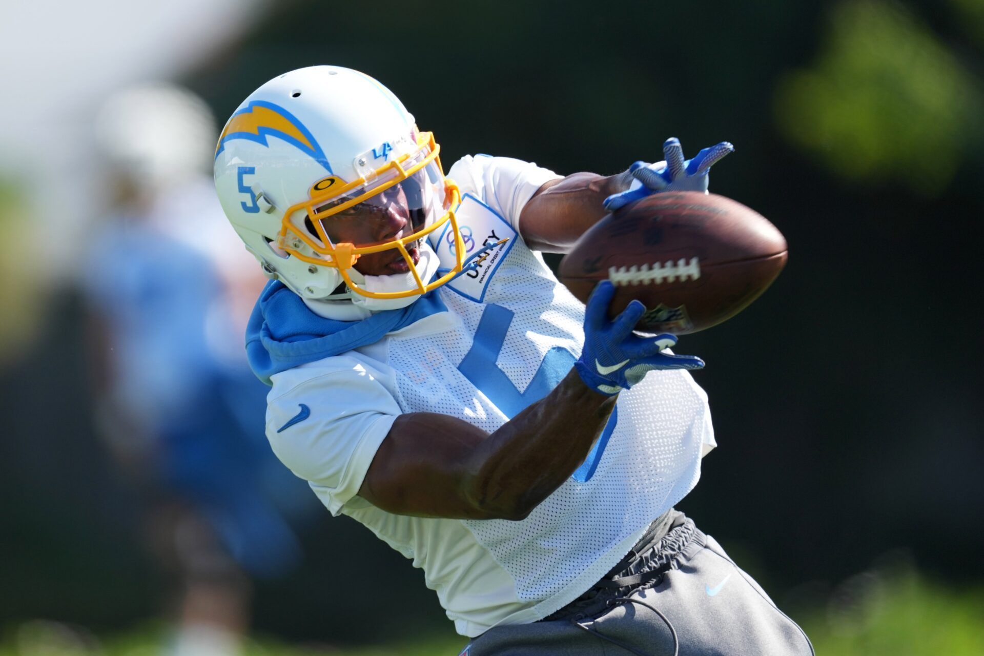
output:
<svg viewBox="0 0 984 656"><path fill-rule="evenodd" d="M567 253L592 225L609 211L665 191L707 193L710 167L734 150L728 142L703 149L685 160L675 138L663 144L665 161L637 161L617 175L575 173L547 182L520 213L520 233L536 251Z"/></svg>

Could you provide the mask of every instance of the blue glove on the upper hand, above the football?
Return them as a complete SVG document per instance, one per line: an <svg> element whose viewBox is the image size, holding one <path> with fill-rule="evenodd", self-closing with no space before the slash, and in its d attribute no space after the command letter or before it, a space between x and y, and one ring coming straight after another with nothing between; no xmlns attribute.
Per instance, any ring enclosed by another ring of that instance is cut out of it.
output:
<svg viewBox="0 0 984 656"><path fill-rule="evenodd" d="M663 144L666 161L646 164L637 161L629 168L632 185L620 194L612 194L604 201L605 209L615 211L633 201L657 192L704 192L707 194L707 171L711 165L734 150L728 142L703 149L693 159L684 161L683 148L676 137Z"/></svg>

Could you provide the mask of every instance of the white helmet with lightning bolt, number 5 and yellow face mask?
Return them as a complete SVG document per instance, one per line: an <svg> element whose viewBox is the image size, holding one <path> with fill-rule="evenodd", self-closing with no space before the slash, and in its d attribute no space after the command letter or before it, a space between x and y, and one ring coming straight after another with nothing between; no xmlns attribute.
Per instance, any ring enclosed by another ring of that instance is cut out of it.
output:
<svg viewBox="0 0 984 656"><path fill-rule="evenodd" d="M379 82L313 66L271 80L232 114L215 148L215 188L247 250L302 298L402 307L462 268L454 213L461 196L444 177L439 150ZM395 203L405 208L401 230L363 243L338 237L345 221L370 220ZM457 246L457 264L437 277L428 235ZM359 258L389 251L394 257L384 260L395 272L356 270Z"/></svg>

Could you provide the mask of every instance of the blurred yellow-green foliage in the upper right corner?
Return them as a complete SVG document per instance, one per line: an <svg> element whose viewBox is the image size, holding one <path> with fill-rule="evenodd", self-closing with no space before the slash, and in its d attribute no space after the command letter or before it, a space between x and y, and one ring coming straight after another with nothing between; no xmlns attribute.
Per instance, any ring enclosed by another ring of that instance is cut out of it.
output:
<svg viewBox="0 0 984 656"><path fill-rule="evenodd" d="M953 0L982 15L981 3ZM842 2L814 65L778 81L779 130L859 184L896 182L933 197L977 138L977 80L900 5Z"/></svg>

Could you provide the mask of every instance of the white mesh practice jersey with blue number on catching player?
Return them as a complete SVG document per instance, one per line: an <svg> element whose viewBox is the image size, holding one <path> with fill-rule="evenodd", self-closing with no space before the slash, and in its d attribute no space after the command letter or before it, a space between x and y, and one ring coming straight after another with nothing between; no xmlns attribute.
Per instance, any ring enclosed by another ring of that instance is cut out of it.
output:
<svg viewBox="0 0 984 656"><path fill-rule="evenodd" d="M558 176L478 155L448 177L466 195L462 209L487 206L461 212L470 252L469 240L480 247L486 232L516 235L526 201ZM491 433L555 387L580 355L584 305L541 256L517 237L488 262L460 290L439 288L448 312L274 375L267 413L284 464L334 514L365 524L422 567L467 636L535 622L581 595L694 488L714 446L705 392L687 372L655 371L620 394L581 468L521 521L411 517L357 497L401 413L439 412ZM310 414L298 421L301 404Z"/></svg>

